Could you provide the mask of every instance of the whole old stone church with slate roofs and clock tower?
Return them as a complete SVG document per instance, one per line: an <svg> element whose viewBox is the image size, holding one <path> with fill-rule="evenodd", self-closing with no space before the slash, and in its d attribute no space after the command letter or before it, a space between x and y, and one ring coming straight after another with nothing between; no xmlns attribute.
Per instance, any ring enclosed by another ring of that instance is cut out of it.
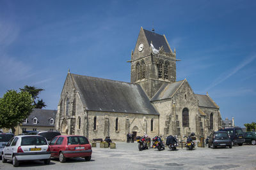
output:
<svg viewBox="0 0 256 170"><path fill-rule="evenodd" d="M131 83L68 71L56 129L125 141L127 132L151 138L195 132L199 138L221 128L220 107L209 94L195 94L186 79L176 81L176 51L164 35L141 27L129 62Z"/></svg>

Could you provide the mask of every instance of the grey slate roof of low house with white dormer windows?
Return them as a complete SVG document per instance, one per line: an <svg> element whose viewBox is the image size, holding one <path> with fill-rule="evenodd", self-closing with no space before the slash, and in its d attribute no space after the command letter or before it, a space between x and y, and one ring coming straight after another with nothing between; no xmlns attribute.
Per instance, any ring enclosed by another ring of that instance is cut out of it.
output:
<svg viewBox="0 0 256 170"><path fill-rule="evenodd" d="M56 113L57 113L56 110L42 110L42 109L35 108L27 118L27 124L22 124L22 125L54 127L54 124L50 125L50 119L53 118L55 122ZM35 117L37 118L37 124L33 124L33 118Z"/></svg>

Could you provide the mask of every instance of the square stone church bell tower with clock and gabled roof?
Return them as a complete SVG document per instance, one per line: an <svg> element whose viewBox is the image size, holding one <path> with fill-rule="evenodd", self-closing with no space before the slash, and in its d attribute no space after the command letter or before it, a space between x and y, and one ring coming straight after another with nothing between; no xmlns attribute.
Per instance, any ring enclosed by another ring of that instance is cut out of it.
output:
<svg viewBox="0 0 256 170"><path fill-rule="evenodd" d="M131 53L131 83L138 83L151 99L160 87L176 81L176 52L164 35L141 27Z"/></svg>

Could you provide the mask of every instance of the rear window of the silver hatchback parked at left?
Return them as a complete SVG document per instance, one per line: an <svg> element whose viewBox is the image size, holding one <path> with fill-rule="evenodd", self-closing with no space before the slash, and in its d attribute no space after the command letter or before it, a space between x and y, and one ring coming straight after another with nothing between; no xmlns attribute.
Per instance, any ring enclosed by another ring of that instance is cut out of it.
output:
<svg viewBox="0 0 256 170"><path fill-rule="evenodd" d="M24 136L21 138L21 146L47 145L47 141L42 136Z"/></svg>

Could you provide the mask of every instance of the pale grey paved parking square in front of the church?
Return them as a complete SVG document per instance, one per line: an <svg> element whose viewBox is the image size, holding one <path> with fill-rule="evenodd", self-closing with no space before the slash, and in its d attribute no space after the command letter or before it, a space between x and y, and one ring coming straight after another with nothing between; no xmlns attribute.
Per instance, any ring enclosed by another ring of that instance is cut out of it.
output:
<svg viewBox="0 0 256 170"><path fill-rule="evenodd" d="M186 150L168 148L138 150L137 143L117 143L116 149L93 148L92 160L69 159L60 163L52 159L45 166L43 162L22 162L14 168L12 162L3 164L0 169L256 169L256 146L244 145L230 148L195 148Z"/></svg>

